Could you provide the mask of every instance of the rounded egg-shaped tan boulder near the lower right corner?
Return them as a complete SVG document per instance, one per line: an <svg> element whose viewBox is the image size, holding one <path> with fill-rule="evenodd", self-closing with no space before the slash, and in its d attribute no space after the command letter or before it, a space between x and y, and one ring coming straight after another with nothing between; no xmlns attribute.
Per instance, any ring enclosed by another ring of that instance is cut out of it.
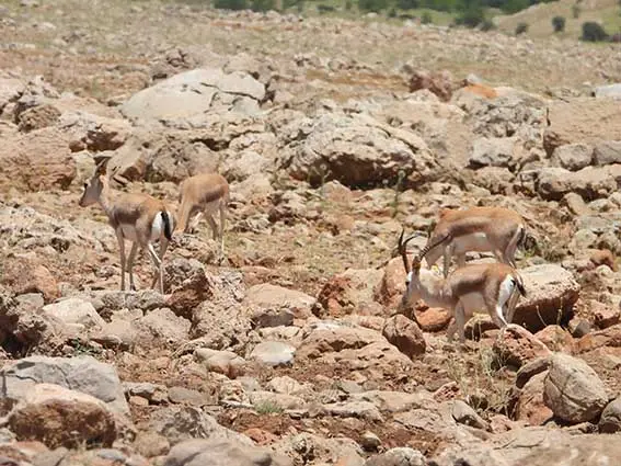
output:
<svg viewBox="0 0 621 466"><path fill-rule="evenodd" d="M597 419L608 404L608 395L603 383L587 363L556 353L545 377L543 401L556 418L579 423Z"/></svg>

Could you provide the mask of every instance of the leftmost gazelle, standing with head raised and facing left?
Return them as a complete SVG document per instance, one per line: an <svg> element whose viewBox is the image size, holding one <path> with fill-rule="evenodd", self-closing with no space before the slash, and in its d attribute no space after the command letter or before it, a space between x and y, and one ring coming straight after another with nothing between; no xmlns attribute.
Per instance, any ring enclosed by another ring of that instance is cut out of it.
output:
<svg viewBox="0 0 621 466"><path fill-rule="evenodd" d="M156 276L151 287L159 283L159 291L164 294L164 277L162 261L172 239L173 216L166 205L148 194L123 193L110 186L106 175L106 164L110 159L102 160L95 168L93 177L84 183L84 193L80 206L99 203L107 215L110 225L116 232L120 252L120 289L125 289L125 271L129 272L129 287L134 285L131 268L138 252L138 247L146 251L156 265ZM125 261L125 240L133 242L127 264ZM160 241L160 254L156 252L153 242Z"/></svg>

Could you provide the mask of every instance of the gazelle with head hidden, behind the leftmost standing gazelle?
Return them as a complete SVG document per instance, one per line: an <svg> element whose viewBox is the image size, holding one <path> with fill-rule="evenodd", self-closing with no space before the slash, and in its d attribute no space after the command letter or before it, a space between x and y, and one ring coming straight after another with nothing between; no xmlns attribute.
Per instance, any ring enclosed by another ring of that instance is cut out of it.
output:
<svg viewBox="0 0 621 466"><path fill-rule="evenodd" d="M180 187L180 213L177 230L188 232L196 228L205 215L214 231L214 240L220 239L220 254L225 253L225 224L229 204L229 183L218 173L200 173L184 180ZM220 212L220 226L214 214ZM191 225L191 220L194 221Z"/></svg>

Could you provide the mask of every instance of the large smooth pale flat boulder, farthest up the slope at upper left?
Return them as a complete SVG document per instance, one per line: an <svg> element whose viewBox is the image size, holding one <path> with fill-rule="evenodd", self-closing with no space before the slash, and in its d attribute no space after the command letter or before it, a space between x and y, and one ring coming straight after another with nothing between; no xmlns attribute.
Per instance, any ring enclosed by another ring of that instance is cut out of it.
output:
<svg viewBox="0 0 621 466"><path fill-rule="evenodd" d="M198 68L143 89L120 111L128 118L180 121L209 112L217 102L234 109L235 102L249 100L256 106L264 98L265 87L245 72Z"/></svg>

